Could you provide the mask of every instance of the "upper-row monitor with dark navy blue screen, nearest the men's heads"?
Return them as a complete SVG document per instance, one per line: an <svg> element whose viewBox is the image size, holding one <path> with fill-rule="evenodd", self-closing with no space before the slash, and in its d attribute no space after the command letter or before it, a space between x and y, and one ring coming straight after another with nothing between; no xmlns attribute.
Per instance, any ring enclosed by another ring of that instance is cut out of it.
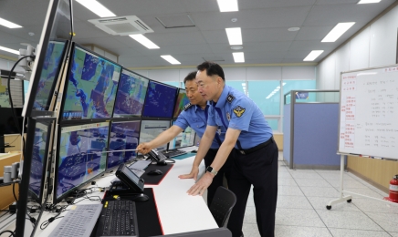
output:
<svg viewBox="0 0 398 237"><path fill-rule="evenodd" d="M151 80L145 97L142 117L172 118L176 95L177 88Z"/></svg>

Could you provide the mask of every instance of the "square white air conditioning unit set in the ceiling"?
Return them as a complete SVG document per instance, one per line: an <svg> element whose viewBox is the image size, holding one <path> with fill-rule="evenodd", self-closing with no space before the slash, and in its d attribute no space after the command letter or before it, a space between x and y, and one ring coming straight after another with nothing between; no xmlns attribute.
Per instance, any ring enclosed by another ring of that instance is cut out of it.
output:
<svg viewBox="0 0 398 237"><path fill-rule="evenodd" d="M153 30L135 15L89 20L94 26L113 36L151 33Z"/></svg>

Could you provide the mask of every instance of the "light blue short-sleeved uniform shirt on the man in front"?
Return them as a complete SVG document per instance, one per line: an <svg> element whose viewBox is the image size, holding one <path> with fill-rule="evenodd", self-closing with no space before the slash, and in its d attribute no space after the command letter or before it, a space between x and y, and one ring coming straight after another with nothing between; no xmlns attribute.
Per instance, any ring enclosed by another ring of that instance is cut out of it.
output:
<svg viewBox="0 0 398 237"><path fill-rule="evenodd" d="M236 149L250 149L272 137L260 108L235 88L225 85L217 103L210 104L207 125L217 127L218 133L228 128L241 130Z"/></svg>

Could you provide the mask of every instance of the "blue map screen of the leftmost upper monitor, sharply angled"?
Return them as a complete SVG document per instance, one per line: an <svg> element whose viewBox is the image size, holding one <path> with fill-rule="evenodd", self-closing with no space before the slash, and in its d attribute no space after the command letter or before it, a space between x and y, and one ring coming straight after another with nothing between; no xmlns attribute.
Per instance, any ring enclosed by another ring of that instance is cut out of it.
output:
<svg viewBox="0 0 398 237"><path fill-rule="evenodd" d="M65 51L65 42L50 41L47 46L47 52L43 68L41 69L40 80L33 109L48 110L50 98L54 93L55 84L59 75L62 59Z"/></svg>

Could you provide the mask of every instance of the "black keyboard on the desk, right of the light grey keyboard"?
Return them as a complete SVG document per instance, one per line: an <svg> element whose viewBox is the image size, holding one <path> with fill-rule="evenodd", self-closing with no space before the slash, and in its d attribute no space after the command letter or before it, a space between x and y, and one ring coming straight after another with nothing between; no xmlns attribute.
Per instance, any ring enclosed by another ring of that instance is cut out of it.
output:
<svg viewBox="0 0 398 237"><path fill-rule="evenodd" d="M139 236L134 201L105 201L96 236Z"/></svg>

